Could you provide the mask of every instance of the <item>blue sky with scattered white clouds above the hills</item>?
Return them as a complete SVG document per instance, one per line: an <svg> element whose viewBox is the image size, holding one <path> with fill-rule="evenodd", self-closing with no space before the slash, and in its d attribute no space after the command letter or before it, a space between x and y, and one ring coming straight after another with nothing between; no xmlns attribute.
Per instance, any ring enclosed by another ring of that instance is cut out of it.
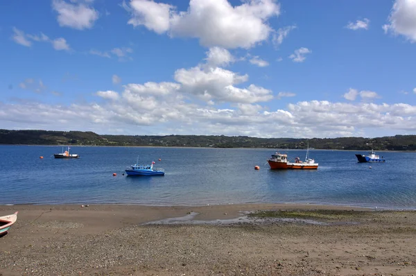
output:
<svg viewBox="0 0 416 276"><path fill-rule="evenodd" d="M0 1L0 128L416 134L416 0Z"/></svg>

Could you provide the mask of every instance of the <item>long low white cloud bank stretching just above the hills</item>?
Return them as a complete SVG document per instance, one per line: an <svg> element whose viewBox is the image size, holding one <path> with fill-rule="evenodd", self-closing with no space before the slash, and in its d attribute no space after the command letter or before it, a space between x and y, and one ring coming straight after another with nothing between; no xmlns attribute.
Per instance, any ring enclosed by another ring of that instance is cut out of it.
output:
<svg viewBox="0 0 416 276"><path fill-rule="evenodd" d="M169 93L158 97L146 93L146 85L138 93L125 87L118 97L112 92L100 93L105 100L100 104L0 102L0 121L4 128L24 127L30 123L33 128L59 130L63 124L64 128L101 134L112 133L112 126L118 126L123 134L130 135L137 133L137 126L146 126L148 135L159 135L163 129L168 134L302 138L374 137L385 132L406 134L416 131L416 106L406 103L302 101L270 111L257 104L239 103L221 109L183 101L177 97L178 90L171 88Z"/></svg>

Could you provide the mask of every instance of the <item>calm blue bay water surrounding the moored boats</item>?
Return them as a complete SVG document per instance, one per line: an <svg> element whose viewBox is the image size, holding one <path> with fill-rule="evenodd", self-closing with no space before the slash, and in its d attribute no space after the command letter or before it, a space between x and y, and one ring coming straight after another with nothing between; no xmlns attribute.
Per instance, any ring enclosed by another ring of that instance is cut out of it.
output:
<svg viewBox="0 0 416 276"><path fill-rule="evenodd" d="M367 152L311 150L318 170L272 171L266 159L274 151L73 146L80 159L54 159L62 147L0 146L0 205L296 202L416 209L415 153L379 152L386 163L359 164L355 154ZM287 153L304 159L306 152ZM140 164L155 161L166 175L122 175L138 156Z"/></svg>

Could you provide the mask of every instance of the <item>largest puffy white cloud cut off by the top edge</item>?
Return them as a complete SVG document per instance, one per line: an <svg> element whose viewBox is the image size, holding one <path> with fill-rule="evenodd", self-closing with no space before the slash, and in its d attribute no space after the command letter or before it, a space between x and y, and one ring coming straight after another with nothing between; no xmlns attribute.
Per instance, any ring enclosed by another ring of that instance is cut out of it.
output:
<svg viewBox="0 0 416 276"><path fill-rule="evenodd" d="M279 15L274 0L244 1L232 6L227 0L192 0L186 12L150 0L131 0L128 24L145 26L171 37L196 37L203 46L250 48L268 39L273 31L268 19ZM230 35L232 34L232 35Z"/></svg>

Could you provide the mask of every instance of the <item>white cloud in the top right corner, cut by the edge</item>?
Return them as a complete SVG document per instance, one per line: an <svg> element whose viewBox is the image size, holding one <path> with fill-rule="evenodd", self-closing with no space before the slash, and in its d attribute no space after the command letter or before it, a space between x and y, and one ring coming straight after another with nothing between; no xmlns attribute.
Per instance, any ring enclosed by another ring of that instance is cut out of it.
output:
<svg viewBox="0 0 416 276"><path fill-rule="evenodd" d="M403 35L411 42L416 42L416 1L395 0L388 24L383 25L385 33Z"/></svg>

